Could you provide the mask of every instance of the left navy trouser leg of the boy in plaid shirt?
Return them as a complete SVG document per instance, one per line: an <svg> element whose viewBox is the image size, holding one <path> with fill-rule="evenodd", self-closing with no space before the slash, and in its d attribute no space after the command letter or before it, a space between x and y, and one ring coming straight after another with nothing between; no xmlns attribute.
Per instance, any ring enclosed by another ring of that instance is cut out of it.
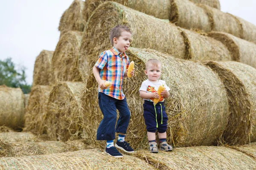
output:
<svg viewBox="0 0 256 170"><path fill-rule="evenodd" d="M114 140L116 125L116 99L103 93L98 94L99 108L103 119L97 130L97 140Z"/></svg>

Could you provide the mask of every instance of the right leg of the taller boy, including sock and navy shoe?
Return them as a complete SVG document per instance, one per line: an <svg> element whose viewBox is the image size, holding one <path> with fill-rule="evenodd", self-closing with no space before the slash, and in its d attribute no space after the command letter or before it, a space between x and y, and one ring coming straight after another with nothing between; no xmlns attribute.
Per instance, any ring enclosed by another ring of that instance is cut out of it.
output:
<svg viewBox="0 0 256 170"><path fill-rule="evenodd" d="M126 133L131 114L126 102L126 97L125 99L118 100L118 102L116 102L116 108L119 111L119 119L116 125L116 133L119 133L119 139L122 140L117 140L115 146L127 153L134 153L134 150L129 146L129 143L124 140L124 135Z"/></svg>

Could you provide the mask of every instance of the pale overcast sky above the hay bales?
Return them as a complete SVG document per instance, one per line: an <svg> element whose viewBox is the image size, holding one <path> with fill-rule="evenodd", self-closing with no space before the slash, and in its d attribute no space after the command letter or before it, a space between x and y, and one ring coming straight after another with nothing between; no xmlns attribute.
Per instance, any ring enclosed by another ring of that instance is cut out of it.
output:
<svg viewBox="0 0 256 170"><path fill-rule="evenodd" d="M54 51L58 24L73 0L0 0L0 59L12 57L23 65L32 84L35 58L44 50ZM256 25L256 0L220 0L221 11Z"/></svg>

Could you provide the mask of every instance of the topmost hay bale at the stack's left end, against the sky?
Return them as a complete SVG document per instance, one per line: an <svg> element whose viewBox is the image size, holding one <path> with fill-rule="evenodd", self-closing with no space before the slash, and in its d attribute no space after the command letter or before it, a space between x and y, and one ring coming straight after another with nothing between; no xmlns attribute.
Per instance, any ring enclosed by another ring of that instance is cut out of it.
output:
<svg viewBox="0 0 256 170"><path fill-rule="evenodd" d="M86 20L84 20L83 11L84 1L74 0L61 16L58 27L58 30L61 31L61 36L67 31L84 31Z"/></svg>

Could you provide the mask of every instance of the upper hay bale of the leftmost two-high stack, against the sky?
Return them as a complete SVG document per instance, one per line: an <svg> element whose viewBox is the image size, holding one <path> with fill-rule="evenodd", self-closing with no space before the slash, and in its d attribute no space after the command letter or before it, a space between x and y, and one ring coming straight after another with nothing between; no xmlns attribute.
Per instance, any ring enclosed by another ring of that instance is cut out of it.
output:
<svg viewBox="0 0 256 170"><path fill-rule="evenodd" d="M43 50L35 59L33 85L49 85L53 51Z"/></svg>

